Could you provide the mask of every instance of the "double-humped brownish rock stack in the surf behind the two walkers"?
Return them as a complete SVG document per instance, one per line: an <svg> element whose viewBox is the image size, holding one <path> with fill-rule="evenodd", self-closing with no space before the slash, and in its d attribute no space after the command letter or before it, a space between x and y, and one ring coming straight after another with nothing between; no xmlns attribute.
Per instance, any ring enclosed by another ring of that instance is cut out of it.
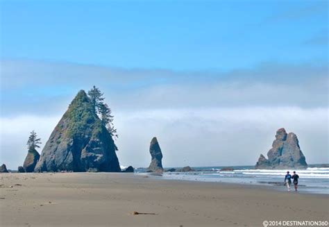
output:
<svg viewBox="0 0 329 227"><path fill-rule="evenodd" d="M297 136L294 133L287 134L285 128L280 128L276 132L276 140L273 141L272 148L267 153L269 159L260 155L255 169L305 169L307 163L301 148L298 144Z"/></svg>

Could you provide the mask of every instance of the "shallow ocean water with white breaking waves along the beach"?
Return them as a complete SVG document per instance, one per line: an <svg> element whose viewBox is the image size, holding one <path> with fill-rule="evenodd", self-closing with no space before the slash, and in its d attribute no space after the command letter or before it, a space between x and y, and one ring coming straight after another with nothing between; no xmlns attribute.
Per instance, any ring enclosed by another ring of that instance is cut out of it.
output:
<svg viewBox="0 0 329 227"><path fill-rule="evenodd" d="M324 165L309 165L307 169L296 170L299 176L298 191L312 194L329 194L329 167ZM295 169L253 169L253 166L230 167L232 171L221 171L227 167L192 167L189 172L164 172L150 174L167 180L192 180L201 182L238 183L248 185L263 185L273 189L286 191L284 178L287 171L290 174ZM169 168L166 168L169 169ZM180 169L175 168L175 169ZM148 174L145 168L136 168L136 174ZM292 186L293 187L293 186ZM294 189L292 188L292 191Z"/></svg>

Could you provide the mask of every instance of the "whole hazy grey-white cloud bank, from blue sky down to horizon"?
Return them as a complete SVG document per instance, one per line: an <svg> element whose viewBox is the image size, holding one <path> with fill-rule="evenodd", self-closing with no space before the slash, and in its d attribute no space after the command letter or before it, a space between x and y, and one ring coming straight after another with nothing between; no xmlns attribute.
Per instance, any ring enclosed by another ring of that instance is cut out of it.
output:
<svg viewBox="0 0 329 227"><path fill-rule="evenodd" d="M78 90L92 85L115 115L121 165L149 165L153 136L165 167L254 165L281 127L296 133L307 162L329 162L325 64L174 72L33 60L1 60L1 162L22 165L28 133L45 143Z"/></svg>

